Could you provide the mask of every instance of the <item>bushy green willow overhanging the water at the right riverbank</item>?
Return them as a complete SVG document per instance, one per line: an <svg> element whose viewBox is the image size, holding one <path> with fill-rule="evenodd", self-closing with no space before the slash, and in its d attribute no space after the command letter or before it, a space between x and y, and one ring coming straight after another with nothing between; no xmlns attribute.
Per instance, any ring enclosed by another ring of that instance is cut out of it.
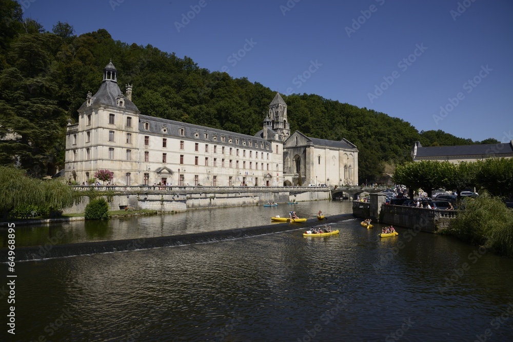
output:
<svg viewBox="0 0 513 342"><path fill-rule="evenodd" d="M465 242L513 257L513 211L486 193L466 198L465 210L451 220L447 232Z"/></svg>

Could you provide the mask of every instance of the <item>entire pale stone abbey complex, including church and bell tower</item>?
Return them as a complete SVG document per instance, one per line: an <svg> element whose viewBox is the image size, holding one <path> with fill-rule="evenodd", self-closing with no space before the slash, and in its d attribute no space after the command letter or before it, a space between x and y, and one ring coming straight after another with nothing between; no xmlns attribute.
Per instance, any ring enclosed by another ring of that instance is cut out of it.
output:
<svg viewBox="0 0 513 342"><path fill-rule="evenodd" d="M117 185L358 183L356 146L345 139L291 135L287 105L278 93L254 136L147 116L131 98L132 86L124 95L109 63L100 89L78 109L78 123L68 124L66 179L83 183L106 169Z"/></svg>

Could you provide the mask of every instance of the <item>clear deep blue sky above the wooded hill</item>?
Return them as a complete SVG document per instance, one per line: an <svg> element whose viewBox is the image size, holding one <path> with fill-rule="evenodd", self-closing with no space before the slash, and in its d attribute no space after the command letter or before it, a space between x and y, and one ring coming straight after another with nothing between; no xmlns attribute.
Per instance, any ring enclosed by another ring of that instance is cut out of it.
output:
<svg viewBox="0 0 513 342"><path fill-rule="evenodd" d="M31 1L19 1L25 16L50 31L58 21L78 35L103 28L210 71L374 109L419 131L513 139L511 0Z"/></svg>

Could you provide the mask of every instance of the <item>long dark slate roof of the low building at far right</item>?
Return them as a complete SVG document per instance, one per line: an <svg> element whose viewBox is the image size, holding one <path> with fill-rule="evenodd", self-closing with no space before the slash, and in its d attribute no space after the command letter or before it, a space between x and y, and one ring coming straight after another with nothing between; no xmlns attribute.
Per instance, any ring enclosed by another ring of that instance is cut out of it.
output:
<svg viewBox="0 0 513 342"><path fill-rule="evenodd" d="M463 156L463 155L498 155L512 154L513 145L511 143L503 144L481 144L481 145L463 145L463 146L436 146L436 147L417 147L416 157L443 157L443 156Z"/></svg>

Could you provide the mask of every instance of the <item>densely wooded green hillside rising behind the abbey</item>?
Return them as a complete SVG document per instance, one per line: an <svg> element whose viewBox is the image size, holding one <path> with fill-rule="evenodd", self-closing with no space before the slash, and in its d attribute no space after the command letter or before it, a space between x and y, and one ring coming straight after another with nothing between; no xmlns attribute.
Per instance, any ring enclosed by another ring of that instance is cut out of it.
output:
<svg viewBox="0 0 513 342"><path fill-rule="evenodd" d="M132 100L146 115L253 135L275 95L260 83L200 68L187 56L114 41L104 29L76 36L72 23L59 22L49 32L22 15L18 3L0 0L0 163L34 176L64 166L68 119L76 122L76 110L100 87L110 59L120 88L133 85ZM423 146L479 143L440 130L419 132L402 119L319 95L282 96L292 131L344 137L358 147L360 182L375 182L385 166L408 160L417 140Z"/></svg>

